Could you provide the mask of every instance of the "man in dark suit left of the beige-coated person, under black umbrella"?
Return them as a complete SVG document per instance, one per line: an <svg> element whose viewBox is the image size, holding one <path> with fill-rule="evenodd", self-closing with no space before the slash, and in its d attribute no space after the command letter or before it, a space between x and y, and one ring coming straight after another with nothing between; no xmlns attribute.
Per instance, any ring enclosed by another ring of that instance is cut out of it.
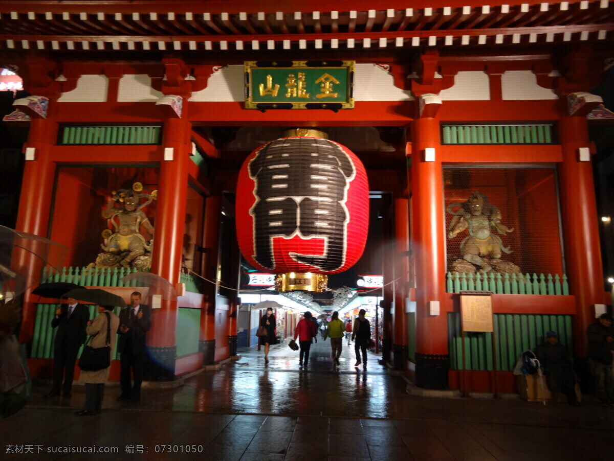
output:
<svg viewBox="0 0 614 461"><path fill-rule="evenodd" d="M88 307L79 304L74 298L68 298L68 304L55 311L55 317L51 321L52 328L58 329L53 343L53 389L45 394L45 398L60 395L62 389L64 397L71 397L75 362L79 348L87 337L85 327L89 320Z"/></svg>

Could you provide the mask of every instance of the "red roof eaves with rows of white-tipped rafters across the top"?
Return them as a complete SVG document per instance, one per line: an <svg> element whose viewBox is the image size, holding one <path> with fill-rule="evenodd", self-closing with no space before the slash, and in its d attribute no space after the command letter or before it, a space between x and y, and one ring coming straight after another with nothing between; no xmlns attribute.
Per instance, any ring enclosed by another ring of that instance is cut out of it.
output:
<svg viewBox="0 0 614 461"><path fill-rule="evenodd" d="M3 47L231 51L473 47L607 39L609 0L489 1L0 0ZM411 6L411 7L407 7ZM333 10L333 8L335 10ZM611 35L611 32L610 32ZM96 42L92 44L91 42Z"/></svg>

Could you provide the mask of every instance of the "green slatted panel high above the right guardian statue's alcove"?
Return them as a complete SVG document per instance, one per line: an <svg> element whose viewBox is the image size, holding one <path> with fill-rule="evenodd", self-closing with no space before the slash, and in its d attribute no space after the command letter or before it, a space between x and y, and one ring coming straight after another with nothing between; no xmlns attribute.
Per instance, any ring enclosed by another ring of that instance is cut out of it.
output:
<svg viewBox="0 0 614 461"><path fill-rule="evenodd" d="M442 124L443 144L553 144L553 124Z"/></svg>

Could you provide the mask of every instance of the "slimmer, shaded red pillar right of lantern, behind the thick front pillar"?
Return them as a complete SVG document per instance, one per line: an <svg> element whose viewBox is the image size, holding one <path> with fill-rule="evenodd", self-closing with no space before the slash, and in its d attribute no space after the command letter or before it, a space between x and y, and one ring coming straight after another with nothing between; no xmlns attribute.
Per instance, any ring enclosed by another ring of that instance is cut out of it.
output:
<svg viewBox="0 0 614 461"><path fill-rule="evenodd" d="M394 292L394 336L392 352L394 367L405 368L408 357L407 316L405 314L405 297L408 296L410 273L410 209L408 199L394 199L395 226L395 282Z"/></svg>

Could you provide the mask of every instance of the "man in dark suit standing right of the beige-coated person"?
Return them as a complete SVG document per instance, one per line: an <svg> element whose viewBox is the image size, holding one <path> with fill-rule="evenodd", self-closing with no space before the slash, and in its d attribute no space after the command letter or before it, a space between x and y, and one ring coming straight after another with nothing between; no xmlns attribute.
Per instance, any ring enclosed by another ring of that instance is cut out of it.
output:
<svg viewBox="0 0 614 461"><path fill-rule="evenodd" d="M143 381L143 360L145 358L146 333L152 327L152 311L147 305L141 304L141 293L134 291L130 295L130 307L119 313L119 341L117 350L120 352L122 373L120 384L122 395L117 400L136 402L141 400L141 383ZM130 369L134 378L131 385Z"/></svg>

